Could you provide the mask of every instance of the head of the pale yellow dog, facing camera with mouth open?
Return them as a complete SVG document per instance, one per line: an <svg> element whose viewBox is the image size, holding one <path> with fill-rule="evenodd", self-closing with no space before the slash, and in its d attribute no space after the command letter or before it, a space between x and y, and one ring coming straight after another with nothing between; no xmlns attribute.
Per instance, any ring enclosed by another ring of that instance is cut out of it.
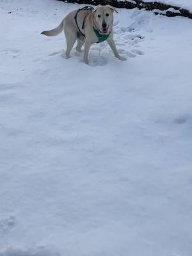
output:
<svg viewBox="0 0 192 256"><path fill-rule="evenodd" d="M102 34L108 34L113 28L113 12L117 12L115 7L106 5L98 6L93 10L93 18L97 29Z"/></svg>

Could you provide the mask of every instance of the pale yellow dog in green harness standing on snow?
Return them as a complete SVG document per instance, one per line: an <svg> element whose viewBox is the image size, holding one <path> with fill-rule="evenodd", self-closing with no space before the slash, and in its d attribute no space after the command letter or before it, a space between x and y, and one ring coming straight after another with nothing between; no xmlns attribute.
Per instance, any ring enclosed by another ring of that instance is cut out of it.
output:
<svg viewBox="0 0 192 256"><path fill-rule="evenodd" d="M67 41L66 58L70 58L70 51L77 40L76 50L81 52L84 44L84 62L88 64L88 52L94 43L107 41L115 57L126 60L118 54L113 40L113 12L117 12L112 6L86 6L74 10L65 17L57 28L43 31L46 36L56 36L64 30Z"/></svg>

